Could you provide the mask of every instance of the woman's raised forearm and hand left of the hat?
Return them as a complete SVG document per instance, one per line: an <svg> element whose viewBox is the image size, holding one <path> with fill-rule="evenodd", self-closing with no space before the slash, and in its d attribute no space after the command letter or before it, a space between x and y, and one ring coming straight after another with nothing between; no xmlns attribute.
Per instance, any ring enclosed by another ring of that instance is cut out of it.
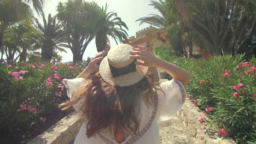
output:
<svg viewBox="0 0 256 144"><path fill-rule="evenodd" d="M96 56L91 59L91 62L89 63L88 67L86 67L82 71L82 73L80 73L76 78L86 79L91 73L94 73L94 71L98 69L98 65L96 64L103 59L104 54L105 54L104 51L97 53Z"/></svg>

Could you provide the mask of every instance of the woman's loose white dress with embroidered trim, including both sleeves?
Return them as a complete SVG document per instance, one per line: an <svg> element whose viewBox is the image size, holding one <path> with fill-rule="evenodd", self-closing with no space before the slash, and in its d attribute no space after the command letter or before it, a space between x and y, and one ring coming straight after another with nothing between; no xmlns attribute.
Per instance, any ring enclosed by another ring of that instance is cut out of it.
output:
<svg viewBox="0 0 256 144"><path fill-rule="evenodd" d="M75 89L79 87L80 83L83 83L85 79L64 79L63 83L68 88L68 97L74 93ZM139 133L137 135L127 135L124 143L133 144L155 144L161 143L158 129L158 122L167 121L170 119L182 106L185 99L187 98L187 92L184 86L178 80L172 79L171 81L162 82L160 87L164 91L162 93L159 90L157 95L154 95L154 106L146 106L143 100L141 103L135 106L135 115L139 122ZM75 97L75 96L73 96ZM73 106L77 111L78 107ZM114 135L110 134L108 131L102 131L96 136L91 136L89 139L86 136L86 123L84 122L80 128L77 136L75 137L74 144L106 144L115 142Z"/></svg>

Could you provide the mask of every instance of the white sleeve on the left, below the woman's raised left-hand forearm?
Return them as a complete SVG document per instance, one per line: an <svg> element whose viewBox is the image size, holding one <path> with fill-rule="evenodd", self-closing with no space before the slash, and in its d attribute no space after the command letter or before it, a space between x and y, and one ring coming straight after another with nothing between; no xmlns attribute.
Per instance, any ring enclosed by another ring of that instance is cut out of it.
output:
<svg viewBox="0 0 256 144"><path fill-rule="evenodd" d="M68 97L72 100L73 97L76 96L76 95L73 95L74 92L75 92L75 90L76 90L77 88L79 88L79 86L80 86L83 82L85 82L85 79L84 79L84 78L63 79L62 82L63 82L63 84L65 85L65 87L67 88L67 95L68 95ZM81 103L82 101L79 101L79 102ZM78 110L79 110L79 107L78 107L78 105L80 104L79 102L78 102L77 104L73 105L75 111L77 111L77 112L78 112Z"/></svg>

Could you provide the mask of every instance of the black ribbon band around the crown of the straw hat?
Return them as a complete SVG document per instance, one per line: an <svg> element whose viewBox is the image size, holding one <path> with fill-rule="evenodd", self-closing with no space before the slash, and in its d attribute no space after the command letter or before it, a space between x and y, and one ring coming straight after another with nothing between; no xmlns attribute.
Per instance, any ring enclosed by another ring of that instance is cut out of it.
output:
<svg viewBox="0 0 256 144"><path fill-rule="evenodd" d="M136 61L137 61L137 59L135 59L129 65L122 67L122 68L114 68L112 65L109 64L109 68L111 70L113 77L118 77L120 75L125 75L125 74L131 73L131 72L135 72L136 71L136 64L135 64Z"/></svg>

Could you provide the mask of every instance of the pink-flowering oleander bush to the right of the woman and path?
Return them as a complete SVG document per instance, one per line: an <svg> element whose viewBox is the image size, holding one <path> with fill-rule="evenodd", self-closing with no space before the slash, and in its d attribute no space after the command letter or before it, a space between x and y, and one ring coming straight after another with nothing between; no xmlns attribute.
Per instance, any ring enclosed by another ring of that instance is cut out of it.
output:
<svg viewBox="0 0 256 144"><path fill-rule="evenodd" d="M173 56L157 47L158 56L190 74L186 86L189 99L207 119L199 118L205 130L219 130L237 143L256 141L256 58L249 62L245 55L213 56L209 59L187 59ZM157 53L155 52L155 53ZM202 130L203 130L202 129Z"/></svg>

